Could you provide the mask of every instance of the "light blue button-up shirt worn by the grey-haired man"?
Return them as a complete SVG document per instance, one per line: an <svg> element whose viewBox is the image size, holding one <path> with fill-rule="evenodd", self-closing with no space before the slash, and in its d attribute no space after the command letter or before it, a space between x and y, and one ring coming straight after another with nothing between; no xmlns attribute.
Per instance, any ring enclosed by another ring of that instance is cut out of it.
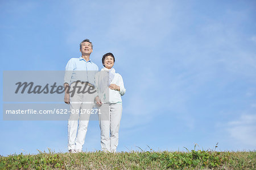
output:
<svg viewBox="0 0 256 170"><path fill-rule="evenodd" d="M82 57L72 58L65 68L64 84L71 85L75 81L84 81L95 86L94 77L97 72L98 66L91 60L85 61Z"/></svg>

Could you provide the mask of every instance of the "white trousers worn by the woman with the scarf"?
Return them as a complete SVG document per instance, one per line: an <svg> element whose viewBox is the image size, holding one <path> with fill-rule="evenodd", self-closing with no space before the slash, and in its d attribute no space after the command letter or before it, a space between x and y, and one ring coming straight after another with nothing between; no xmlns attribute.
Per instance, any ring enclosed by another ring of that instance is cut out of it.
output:
<svg viewBox="0 0 256 170"><path fill-rule="evenodd" d="M116 152L118 131L122 117L122 104L103 104L99 109L101 109L101 114L98 114L101 128L101 150Z"/></svg>

